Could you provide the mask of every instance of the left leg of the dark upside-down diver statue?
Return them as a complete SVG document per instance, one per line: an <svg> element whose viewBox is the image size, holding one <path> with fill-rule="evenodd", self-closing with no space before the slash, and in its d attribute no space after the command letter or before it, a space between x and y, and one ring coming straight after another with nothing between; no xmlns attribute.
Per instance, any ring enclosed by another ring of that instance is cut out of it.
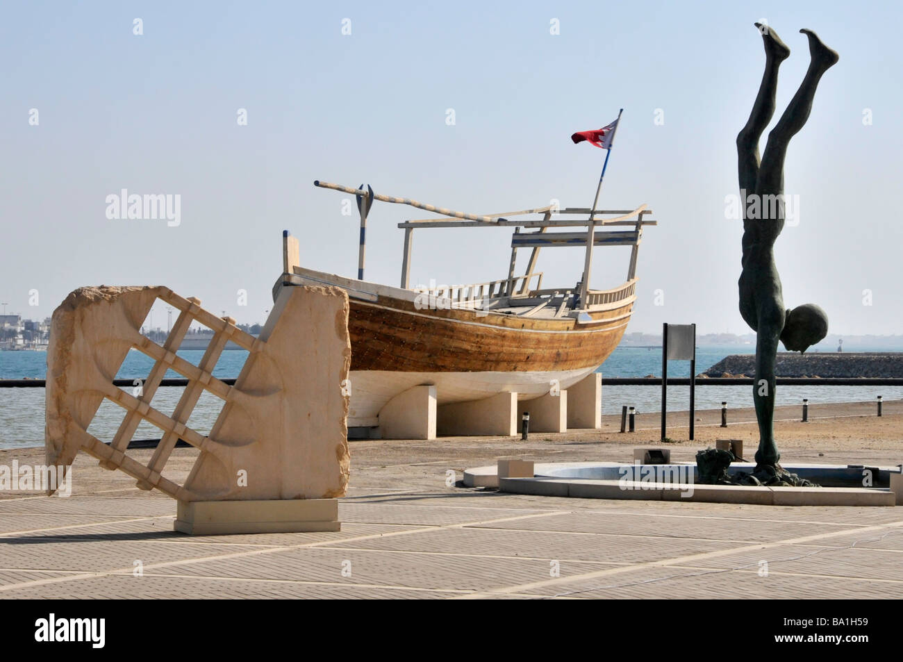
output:
<svg viewBox="0 0 903 662"><path fill-rule="evenodd" d="M780 40L774 30L767 25L756 23L762 33L765 45L765 72L759 84L759 94L752 105L746 126L737 135L738 172L740 189L748 193L756 190L759 176L759 136L775 114L775 93L777 91L777 68L787 60L790 49Z"/></svg>

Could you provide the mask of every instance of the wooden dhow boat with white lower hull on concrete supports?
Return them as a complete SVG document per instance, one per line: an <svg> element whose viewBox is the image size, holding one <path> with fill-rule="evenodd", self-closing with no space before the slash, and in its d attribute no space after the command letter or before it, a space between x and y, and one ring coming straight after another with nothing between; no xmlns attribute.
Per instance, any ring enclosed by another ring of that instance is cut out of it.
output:
<svg viewBox="0 0 903 662"><path fill-rule="evenodd" d="M517 425L517 413L508 411L508 402L517 409L517 401L536 400L538 411L539 398L560 397L592 376L627 328L637 298L637 255L643 228L656 225L647 218L651 210L646 205L634 210L555 209L550 205L481 216L377 194L369 186L314 184L350 193L358 200L358 278L302 266L298 240L285 230L284 273L274 286L274 300L283 287L294 285L332 285L348 293L348 425L369 428L370 434L365 436L433 438L437 424L439 434L515 434L509 422ZM398 287L364 280L365 230L375 200L406 204L444 217L398 224L405 230ZM514 229L507 277L486 283L410 285L414 230L498 227ZM632 247L627 279L612 289L591 289L593 248L610 246ZM544 287L543 274L535 271L544 247L585 248L583 271L576 284ZM526 273L517 275L517 251L527 248ZM598 386L595 391L595 402L590 405L595 415L567 415L572 427L576 420L583 422L582 427L598 426L592 424L593 419L599 420ZM501 399L489 399L502 394L506 395ZM456 403L465 405L462 408ZM499 414L497 410L503 411ZM480 418L489 421L498 416L500 425L480 424ZM535 425L531 424L531 429L537 430ZM560 427L551 425L555 430Z"/></svg>

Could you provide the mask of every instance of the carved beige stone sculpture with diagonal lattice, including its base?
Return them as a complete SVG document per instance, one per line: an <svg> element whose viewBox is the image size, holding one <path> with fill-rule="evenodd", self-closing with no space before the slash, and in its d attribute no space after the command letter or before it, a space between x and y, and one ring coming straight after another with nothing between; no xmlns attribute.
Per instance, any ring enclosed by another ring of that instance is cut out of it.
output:
<svg viewBox="0 0 903 662"><path fill-rule="evenodd" d="M140 332L158 299L179 311L163 345ZM166 287L72 292L52 317L48 465L69 468L79 451L87 452L102 467L125 471L142 490L161 490L176 499L174 527L184 533L339 530L337 498L345 495L349 480L348 310L348 296L339 288L286 289L255 338L234 320L205 311L198 299ZM214 332L197 366L175 354L192 322ZM248 351L232 387L211 374L228 340ZM302 344L307 350L298 351ZM154 359L137 393L113 384L133 349ZM188 386L166 414L154 406L154 394L170 369L188 378ZM190 425L202 391L223 401L206 435ZM108 444L88 432L105 399L123 409ZM141 421L163 434L146 463L128 450ZM200 449L184 484L165 469L179 439Z"/></svg>

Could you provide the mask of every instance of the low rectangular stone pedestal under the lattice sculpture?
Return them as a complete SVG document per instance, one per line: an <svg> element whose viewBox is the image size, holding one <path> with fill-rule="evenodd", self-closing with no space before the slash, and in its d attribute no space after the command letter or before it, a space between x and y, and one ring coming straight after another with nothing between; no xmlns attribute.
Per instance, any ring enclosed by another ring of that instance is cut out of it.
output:
<svg viewBox="0 0 903 662"><path fill-rule="evenodd" d="M173 528L191 536L340 531L339 499L180 500Z"/></svg>

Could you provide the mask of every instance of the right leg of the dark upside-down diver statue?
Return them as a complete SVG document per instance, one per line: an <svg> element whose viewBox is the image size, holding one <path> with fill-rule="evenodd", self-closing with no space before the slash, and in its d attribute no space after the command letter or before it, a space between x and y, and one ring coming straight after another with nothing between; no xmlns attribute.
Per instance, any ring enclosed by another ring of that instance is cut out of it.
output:
<svg viewBox="0 0 903 662"><path fill-rule="evenodd" d="M800 32L809 38L812 60L794 98L790 99L787 110L777 121L777 126L768 134L768 145L765 146L765 154L762 154L759 179L755 187L759 195L784 192L784 158L787 155L787 145L790 138L803 128L809 113L812 112L812 99L815 98L818 81L838 60L837 53L825 46L814 32L811 30Z"/></svg>

